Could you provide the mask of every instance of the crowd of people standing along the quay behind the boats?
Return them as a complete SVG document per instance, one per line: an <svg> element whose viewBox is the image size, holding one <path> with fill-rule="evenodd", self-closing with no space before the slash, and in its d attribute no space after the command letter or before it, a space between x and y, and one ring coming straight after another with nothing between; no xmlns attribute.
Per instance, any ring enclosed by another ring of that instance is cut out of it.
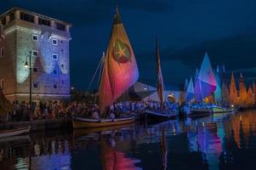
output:
<svg viewBox="0 0 256 170"><path fill-rule="evenodd" d="M177 109L178 104L168 105L164 103L165 107L171 110ZM124 115L124 114L140 114L145 110L160 110L159 102L155 101L126 101L116 102L110 105L105 114L101 116L109 117L111 119ZM83 116L87 118L100 118L100 107L91 101L88 102L77 102L73 101L70 103L59 102L59 101L48 101L48 102L33 102L31 106L29 103L13 102L13 111L9 112L6 117L8 122L20 122L20 121L32 121L40 119L51 119L58 117L71 116Z"/></svg>

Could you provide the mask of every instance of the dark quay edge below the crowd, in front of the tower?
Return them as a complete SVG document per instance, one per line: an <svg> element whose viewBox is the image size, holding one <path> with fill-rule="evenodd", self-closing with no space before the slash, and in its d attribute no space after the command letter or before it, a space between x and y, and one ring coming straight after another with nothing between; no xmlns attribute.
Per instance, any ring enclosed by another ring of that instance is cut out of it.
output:
<svg viewBox="0 0 256 170"><path fill-rule="evenodd" d="M49 129L72 128L71 119L56 118L26 122L6 122L0 124L0 129L10 127L28 127L31 126L31 132L46 131Z"/></svg>

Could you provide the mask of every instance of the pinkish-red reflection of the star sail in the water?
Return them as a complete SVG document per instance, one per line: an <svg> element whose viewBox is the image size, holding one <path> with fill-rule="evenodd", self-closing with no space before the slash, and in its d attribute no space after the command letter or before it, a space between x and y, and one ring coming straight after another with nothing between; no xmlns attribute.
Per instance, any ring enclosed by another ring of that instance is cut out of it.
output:
<svg viewBox="0 0 256 170"><path fill-rule="evenodd" d="M135 163L137 163L138 161L131 159L121 151L118 151L114 147L116 146L116 142L113 142L112 140L115 140L115 136L113 135L111 135L111 139L109 139L111 144L108 144L108 139L105 139L104 136L100 136L100 149L103 169L139 169L139 167L135 166Z"/></svg>

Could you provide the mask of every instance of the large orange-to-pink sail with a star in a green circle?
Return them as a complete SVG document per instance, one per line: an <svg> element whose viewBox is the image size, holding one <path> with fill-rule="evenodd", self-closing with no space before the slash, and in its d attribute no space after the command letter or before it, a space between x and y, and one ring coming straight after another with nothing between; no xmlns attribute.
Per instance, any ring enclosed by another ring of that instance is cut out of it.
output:
<svg viewBox="0 0 256 170"><path fill-rule="evenodd" d="M138 66L118 8L100 79L100 114L137 82Z"/></svg>

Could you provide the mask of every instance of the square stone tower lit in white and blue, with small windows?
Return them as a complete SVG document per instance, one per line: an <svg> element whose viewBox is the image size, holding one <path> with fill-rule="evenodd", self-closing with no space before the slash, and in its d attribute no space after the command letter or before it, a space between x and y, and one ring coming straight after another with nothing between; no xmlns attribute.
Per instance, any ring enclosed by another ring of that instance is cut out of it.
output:
<svg viewBox="0 0 256 170"><path fill-rule="evenodd" d="M22 8L0 15L0 86L11 100L70 98L71 25Z"/></svg>

